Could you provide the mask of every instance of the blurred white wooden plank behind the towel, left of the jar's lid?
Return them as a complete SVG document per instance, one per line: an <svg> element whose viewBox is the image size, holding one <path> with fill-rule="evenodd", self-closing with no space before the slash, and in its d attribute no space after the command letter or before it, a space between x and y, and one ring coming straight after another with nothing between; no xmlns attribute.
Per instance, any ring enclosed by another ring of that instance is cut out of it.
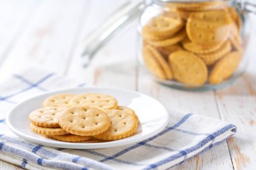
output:
<svg viewBox="0 0 256 170"><path fill-rule="evenodd" d="M22 36L6 54L1 75L27 67L64 73L87 1L43 1ZM3 74L4 73L4 74Z"/></svg>

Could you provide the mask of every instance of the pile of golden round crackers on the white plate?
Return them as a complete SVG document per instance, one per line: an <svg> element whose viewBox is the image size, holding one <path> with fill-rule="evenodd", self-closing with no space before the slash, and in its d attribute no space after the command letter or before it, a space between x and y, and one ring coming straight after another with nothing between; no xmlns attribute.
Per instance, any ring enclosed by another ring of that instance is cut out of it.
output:
<svg viewBox="0 0 256 170"><path fill-rule="evenodd" d="M29 119L37 134L64 142L127 138L139 123L133 110L118 105L111 95L98 93L53 95Z"/></svg>

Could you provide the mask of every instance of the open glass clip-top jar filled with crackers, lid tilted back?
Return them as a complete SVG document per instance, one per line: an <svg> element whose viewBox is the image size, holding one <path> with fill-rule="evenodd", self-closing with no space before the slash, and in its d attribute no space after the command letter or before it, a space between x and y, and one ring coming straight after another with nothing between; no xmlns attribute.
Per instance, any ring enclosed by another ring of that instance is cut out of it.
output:
<svg viewBox="0 0 256 170"><path fill-rule="evenodd" d="M251 33L246 0L145 0L129 2L82 43L86 65L131 19L139 17L141 63L159 83L178 89L217 89L247 67Z"/></svg>

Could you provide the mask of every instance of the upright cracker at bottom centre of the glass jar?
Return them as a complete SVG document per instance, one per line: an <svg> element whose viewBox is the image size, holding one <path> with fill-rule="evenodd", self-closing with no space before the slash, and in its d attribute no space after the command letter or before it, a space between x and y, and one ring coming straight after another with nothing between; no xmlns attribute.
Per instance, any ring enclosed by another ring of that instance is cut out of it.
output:
<svg viewBox="0 0 256 170"><path fill-rule="evenodd" d="M185 50L172 52L169 63L174 79L187 85L203 85L207 80L207 67L203 60Z"/></svg>

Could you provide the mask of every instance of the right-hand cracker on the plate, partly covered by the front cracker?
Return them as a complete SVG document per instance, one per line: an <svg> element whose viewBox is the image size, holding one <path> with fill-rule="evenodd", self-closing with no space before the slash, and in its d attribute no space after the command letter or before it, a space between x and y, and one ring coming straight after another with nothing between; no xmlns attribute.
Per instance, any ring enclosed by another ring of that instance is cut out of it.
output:
<svg viewBox="0 0 256 170"><path fill-rule="evenodd" d="M94 136L102 140L119 140L131 136L137 130L137 119L134 115L122 110L105 110L111 125L106 132Z"/></svg>

